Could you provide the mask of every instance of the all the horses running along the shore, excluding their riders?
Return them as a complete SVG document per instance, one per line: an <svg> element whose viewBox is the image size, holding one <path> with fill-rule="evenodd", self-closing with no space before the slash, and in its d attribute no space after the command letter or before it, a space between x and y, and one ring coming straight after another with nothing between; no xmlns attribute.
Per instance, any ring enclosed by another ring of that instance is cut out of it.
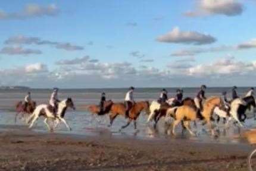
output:
<svg viewBox="0 0 256 171"><path fill-rule="evenodd" d="M49 126L48 119L52 119L56 122L56 126L59 122L63 122L68 129L71 130L70 126L64 119L65 112L67 108L75 109L73 100L71 98L65 99L58 103L57 112L53 112L49 105L38 105L36 106L35 102L29 103L26 109L22 102L19 102L16 106L17 115L15 116L15 121L19 113L29 113L29 118L27 119L27 124L29 128L32 128L35 121L39 116L45 117L44 122L49 129L53 131L54 128ZM221 103L220 97L210 97L202 103L202 109L196 108L195 102L193 99L187 97L181 103L176 103L175 100L170 99L167 103L158 103L157 101L139 101L133 104L129 110L128 115L126 115L126 106L124 103L114 103L112 100L108 100L104 103L104 111L101 111L99 105L89 105L86 107L92 115L109 115L110 124L113 125L114 119L118 115L124 116L127 119L127 124L121 126L121 129L126 128L130 125L131 122L134 123L134 128L136 129L136 120L139 115L144 111L148 115L147 122L154 121L154 128L157 127L158 121L162 117L166 119L171 118L172 120L172 129L171 133L176 134L175 128L178 124L182 124L182 127L189 131L191 135L195 133L191 130L191 122L201 121L202 125L208 125L208 128L212 135L215 135L214 131L214 121L220 121L220 118L223 118L226 121L226 124L233 119L239 126L243 126L242 122L245 122L246 116L249 113L254 113L256 109L255 99L253 96L238 98L230 102L230 110L224 110L223 104ZM217 118L217 119L214 119Z"/></svg>

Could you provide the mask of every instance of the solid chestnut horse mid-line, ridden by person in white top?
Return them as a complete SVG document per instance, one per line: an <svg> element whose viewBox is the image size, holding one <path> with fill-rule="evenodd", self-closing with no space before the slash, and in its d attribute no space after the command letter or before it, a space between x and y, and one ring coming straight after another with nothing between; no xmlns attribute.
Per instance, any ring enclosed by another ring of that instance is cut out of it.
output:
<svg viewBox="0 0 256 171"><path fill-rule="evenodd" d="M139 117L140 113L142 110L145 110L146 113L149 113L149 102L148 101L141 101L141 102L136 102L135 105L132 106L132 108L129 111L129 121L127 122L126 125L122 126L121 129L126 128L127 126L130 125L130 122L134 122L134 128L136 129L136 119ZM110 109L110 125L113 124L114 119L118 115L126 115L126 107L124 106L123 103L114 103L111 106Z"/></svg>

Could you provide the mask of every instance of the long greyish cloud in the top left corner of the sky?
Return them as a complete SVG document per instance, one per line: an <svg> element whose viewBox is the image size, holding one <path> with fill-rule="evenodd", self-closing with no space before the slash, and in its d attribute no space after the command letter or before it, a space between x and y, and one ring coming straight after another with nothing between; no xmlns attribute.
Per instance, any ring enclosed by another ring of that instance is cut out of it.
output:
<svg viewBox="0 0 256 171"><path fill-rule="evenodd" d="M55 16L59 12L55 4L46 7L38 4L27 4L20 12L8 13L0 11L0 20L24 20L32 17Z"/></svg>

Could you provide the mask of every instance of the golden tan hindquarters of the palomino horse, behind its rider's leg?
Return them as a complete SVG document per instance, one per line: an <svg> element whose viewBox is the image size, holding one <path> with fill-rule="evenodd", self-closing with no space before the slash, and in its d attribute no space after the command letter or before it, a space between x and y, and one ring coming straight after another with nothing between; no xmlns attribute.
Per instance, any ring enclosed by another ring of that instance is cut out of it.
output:
<svg viewBox="0 0 256 171"><path fill-rule="evenodd" d="M171 131L173 135L176 135L175 128L180 122L182 122L182 126L185 127L191 135L195 135L195 133L191 131L191 126L190 126L191 121L195 122L196 119L200 119L198 118L198 112L195 107L188 106L188 105L171 107L167 110L166 115L174 118L172 131Z"/></svg>

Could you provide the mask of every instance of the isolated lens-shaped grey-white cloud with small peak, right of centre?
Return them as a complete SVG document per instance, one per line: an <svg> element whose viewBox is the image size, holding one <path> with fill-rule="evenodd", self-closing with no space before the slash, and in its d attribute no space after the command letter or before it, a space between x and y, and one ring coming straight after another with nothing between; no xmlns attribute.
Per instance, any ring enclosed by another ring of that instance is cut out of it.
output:
<svg viewBox="0 0 256 171"><path fill-rule="evenodd" d="M169 33L159 36L157 41L165 43L205 45L216 42L216 38L209 34L202 34L196 31L180 31L178 27L175 27Z"/></svg>

